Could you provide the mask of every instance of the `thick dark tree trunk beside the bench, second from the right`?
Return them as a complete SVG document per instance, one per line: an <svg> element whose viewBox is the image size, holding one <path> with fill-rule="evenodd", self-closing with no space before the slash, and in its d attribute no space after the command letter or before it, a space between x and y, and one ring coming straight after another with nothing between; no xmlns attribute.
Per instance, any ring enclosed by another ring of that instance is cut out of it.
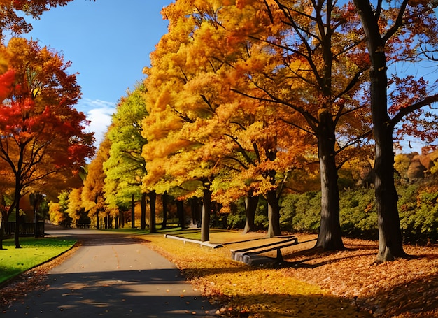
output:
<svg viewBox="0 0 438 318"><path fill-rule="evenodd" d="M339 217L338 172L335 161L334 122L328 111L320 113L318 156L321 178L321 223L315 247L344 250Z"/></svg>

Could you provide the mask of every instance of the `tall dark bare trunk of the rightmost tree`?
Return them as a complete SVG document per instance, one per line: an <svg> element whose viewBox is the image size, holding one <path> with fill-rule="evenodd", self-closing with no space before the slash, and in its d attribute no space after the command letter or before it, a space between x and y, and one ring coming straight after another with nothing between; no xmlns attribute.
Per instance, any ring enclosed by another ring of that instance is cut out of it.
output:
<svg viewBox="0 0 438 318"><path fill-rule="evenodd" d="M367 36L371 60L371 112L376 143L374 154L374 193L379 226L378 261L404 257L397 190L394 185L393 126L388 115L388 77L385 45L379 31L378 19L369 1L354 1L362 27Z"/></svg>

